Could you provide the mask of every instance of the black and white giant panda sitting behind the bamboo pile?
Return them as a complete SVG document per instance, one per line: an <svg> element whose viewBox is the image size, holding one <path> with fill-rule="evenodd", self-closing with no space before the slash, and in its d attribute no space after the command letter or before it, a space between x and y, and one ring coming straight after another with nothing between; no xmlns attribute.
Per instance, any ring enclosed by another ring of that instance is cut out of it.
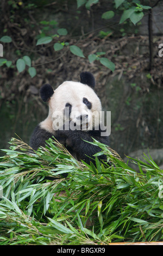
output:
<svg viewBox="0 0 163 256"><path fill-rule="evenodd" d="M102 136L101 100L93 90L95 78L90 72L80 74L80 82L66 81L55 91L45 84L40 96L48 102L48 117L41 121L30 138L30 147L37 150L45 147L46 140L55 137L79 161L90 164L95 161L94 154L101 151L93 142L109 145L109 136ZM86 142L87 141L87 142ZM105 155L98 156L105 160Z"/></svg>

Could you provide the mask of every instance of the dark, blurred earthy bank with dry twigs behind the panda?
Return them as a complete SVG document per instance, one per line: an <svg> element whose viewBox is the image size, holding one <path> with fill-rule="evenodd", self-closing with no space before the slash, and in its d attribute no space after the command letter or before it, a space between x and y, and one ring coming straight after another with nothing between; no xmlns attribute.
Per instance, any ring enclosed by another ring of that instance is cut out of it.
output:
<svg viewBox="0 0 163 256"><path fill-rule="evenodd" d="M147 10L136 26L119 23L123 8L116 9L114 1L97 2L88 10L84 5L77 8L76 0L1 1L0 37L12 38L2 43L3 58L12 64L2 65L0 71L1 148L9 147L15 133L28 143L35 125L46 118L48 109L39 96L42 84L56 88L65 80L79 81L80 72L90 71L104 110L111 111L111 147L122 157L136 157L149 148L154 160L162 163L162 1L138 1L153 8L152 15ZM112 19L102 19L106 10L115 12ZM36 46L41 36L55 35L59 28L68 33ZM56 42L68 46L54 51ZM72 54L70 45L80 47L86 58ZM98 60L89 62L87 56L97 52L115 64L114 72ZM32 60L34 77L27 68L16 69L23 56Z"/></svg>

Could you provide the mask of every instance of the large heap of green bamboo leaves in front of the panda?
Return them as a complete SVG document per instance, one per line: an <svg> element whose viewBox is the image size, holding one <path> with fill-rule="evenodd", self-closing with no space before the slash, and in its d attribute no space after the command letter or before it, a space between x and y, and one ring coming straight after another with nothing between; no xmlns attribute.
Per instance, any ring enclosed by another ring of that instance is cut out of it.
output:
<svg viewBox="0 0 163 256"><path fill-rule="evenodd" d="M114 150L93 143L110 163L78 162L52 139L29 153L12 138L0 162L1 245L162 239L163 171L146 156L147 162L133 160L136 173Z"/></svg>

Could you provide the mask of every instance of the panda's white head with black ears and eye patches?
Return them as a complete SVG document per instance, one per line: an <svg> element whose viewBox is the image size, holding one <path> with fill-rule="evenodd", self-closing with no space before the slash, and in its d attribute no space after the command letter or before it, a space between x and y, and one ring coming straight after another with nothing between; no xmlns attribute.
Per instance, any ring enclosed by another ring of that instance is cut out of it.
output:
<svg viewBox="0 0 163 256"><path fill-rule="evenodd" d="M80 82L66 81L55 91L49 84L40 89L42 100L49 104L48 119L52 120L53 130L66 123L83 131L99 126L102 106L94 87L93 75L82 72Z"/></svg>

